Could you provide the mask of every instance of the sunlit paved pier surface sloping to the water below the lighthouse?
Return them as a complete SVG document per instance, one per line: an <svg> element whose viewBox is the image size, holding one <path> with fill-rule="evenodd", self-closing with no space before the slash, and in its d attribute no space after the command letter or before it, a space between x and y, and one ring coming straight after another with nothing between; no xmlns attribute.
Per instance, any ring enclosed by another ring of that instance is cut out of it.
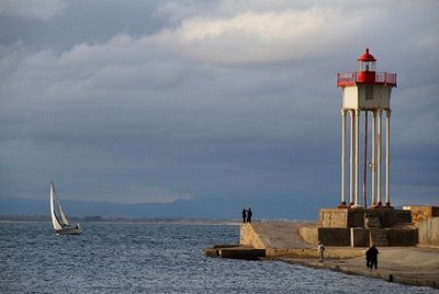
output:
<svg viewBox="0 0 439 294"><path fill-rule="evenodd" d="M365 267L368 248L326 247L326 258L318 262L316 245L305 242L299 234L300 226L306 225L293 222L244 224L240 244L266 249L268 257L285 262L439 289L438 247L381 247L378 270Z"/></svg>

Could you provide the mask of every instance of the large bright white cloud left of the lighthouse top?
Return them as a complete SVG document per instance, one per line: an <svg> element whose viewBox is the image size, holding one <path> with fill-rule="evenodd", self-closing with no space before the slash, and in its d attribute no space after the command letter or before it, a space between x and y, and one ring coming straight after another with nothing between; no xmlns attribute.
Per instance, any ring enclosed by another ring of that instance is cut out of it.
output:
<svg viewBox="0 0 439 294"><path fill-rule="evenodd" d="M206 63L252 64L302 60L344 46L364 18L331 8L193 16L153 36ZM337 32L338 34L334 34Z"/></svg>

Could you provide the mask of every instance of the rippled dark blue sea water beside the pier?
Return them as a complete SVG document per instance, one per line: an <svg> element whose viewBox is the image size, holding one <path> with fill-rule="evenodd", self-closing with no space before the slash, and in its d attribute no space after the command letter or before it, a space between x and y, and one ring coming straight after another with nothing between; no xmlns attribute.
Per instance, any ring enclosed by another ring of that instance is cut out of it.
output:
<svg viewBox="0 0 439 294"><path fill-rule="evenodd" d="M280 261L209 258L237 244L236 225L85 223L56 236L49 223L0 224L0 293L439 293Z"/></svg>

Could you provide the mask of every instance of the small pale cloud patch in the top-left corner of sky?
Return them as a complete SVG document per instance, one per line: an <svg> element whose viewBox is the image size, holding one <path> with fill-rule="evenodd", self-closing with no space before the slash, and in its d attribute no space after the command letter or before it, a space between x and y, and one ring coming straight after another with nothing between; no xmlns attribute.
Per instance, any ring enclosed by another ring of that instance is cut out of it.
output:
<svg viewBox="0 0 439 294"><path fill-rule="evenodd" d="M0 15L49 21L67 8L64 0L2 0Z"/></svg>

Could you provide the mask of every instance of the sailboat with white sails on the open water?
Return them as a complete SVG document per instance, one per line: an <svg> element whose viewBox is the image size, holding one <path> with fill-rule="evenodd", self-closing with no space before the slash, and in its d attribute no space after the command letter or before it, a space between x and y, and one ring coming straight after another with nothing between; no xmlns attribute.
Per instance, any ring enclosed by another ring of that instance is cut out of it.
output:
<svg viewBox="0 0 439 294"><path fill-rule="evenodd" d="M54 182L50 182L50 216L52 224L57 235L79 235L82 233L79 224L71 227L66 214L63 212Z"/></svg>

